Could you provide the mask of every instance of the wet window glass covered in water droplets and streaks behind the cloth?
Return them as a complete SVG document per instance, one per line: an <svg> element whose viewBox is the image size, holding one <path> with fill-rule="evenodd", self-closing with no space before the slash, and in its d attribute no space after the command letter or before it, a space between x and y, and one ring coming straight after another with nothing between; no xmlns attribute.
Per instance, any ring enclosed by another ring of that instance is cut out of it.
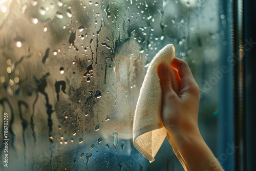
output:
<svg viewBox="0 0 256 171"><path fill-rule="evenodd" d="M151 164L133 146L139 90L154 55L174 44L215 108L205 78L217 66L220 20L217 1L1 1L8 169L181 169L167 141Z"/></svg>

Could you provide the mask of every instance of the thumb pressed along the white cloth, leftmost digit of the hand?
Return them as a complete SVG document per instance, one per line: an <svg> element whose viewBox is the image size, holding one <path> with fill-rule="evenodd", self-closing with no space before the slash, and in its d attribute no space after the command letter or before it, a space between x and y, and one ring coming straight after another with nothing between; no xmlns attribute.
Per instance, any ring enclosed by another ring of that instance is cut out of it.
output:
<svg viewBox="0 0 256 171"><path fill-rule="evenodd" d="M166 63L160 63L157 72L160 78L160 86L162 89L163 97L167 94L175 93L172 87L172 77L170 76L170 70Z"/></svg>

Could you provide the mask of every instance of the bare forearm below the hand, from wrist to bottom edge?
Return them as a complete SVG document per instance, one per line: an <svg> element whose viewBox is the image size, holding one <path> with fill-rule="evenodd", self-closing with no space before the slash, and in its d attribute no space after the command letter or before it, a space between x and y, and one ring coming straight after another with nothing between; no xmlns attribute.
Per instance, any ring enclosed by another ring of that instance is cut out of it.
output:
<svg viewBox="0 0 256 171"><path fill-rule="evenodd" d="M167 138L185 170L223 170L198 128L173 134L167 131Z"/></svg>

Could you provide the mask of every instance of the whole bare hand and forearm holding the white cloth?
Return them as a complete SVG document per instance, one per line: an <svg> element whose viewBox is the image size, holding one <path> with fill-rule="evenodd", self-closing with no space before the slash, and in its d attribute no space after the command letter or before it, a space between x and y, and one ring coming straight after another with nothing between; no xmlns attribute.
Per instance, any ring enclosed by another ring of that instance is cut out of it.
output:
<svg viewBox="0 0 256 171"><path fill-rule="evenodd" d="M175 57L170 65L179 84L178 94L173 90L166 64L159 65L158 75L162 89L162 122L174 153L185 170L223 170L199 132L197 82L184 60Z"/></svg>

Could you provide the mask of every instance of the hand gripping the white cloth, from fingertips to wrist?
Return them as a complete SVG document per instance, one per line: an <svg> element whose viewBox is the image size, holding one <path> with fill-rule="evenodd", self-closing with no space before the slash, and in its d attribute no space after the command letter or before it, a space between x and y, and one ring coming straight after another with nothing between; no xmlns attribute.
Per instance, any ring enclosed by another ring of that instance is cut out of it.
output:
<svg viewBox="0 0 256 171"><path fill-rule="evenodd" d="M175 57L171 65L180 87L178 93L173 90L169 68L164 63L158 67L162 89L162 122L167 130L167 137L198 132L198 84L187 62Z"/></svg>

